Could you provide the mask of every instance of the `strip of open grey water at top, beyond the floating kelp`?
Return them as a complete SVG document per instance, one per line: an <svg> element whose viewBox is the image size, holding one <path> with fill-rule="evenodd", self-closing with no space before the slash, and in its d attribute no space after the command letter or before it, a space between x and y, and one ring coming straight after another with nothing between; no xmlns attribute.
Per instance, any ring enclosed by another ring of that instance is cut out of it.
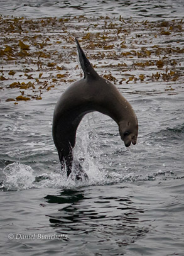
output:
<svg viewBox="0 0 184 256"><path fill-rule="evenodd" d="M29 18L60 16L106 16L121 15L124 18L170 19L183 18L182 0L147 0L147 1L20 1L1 0L1 13L5 15L26 16Z"/></svg>

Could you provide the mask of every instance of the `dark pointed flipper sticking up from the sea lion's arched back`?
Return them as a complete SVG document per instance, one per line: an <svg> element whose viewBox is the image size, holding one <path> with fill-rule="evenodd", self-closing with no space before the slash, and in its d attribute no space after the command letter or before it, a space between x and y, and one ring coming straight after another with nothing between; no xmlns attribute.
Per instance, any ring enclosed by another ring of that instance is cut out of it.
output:
<svg viewBox="0 0 184 256"><path fill-rule="evenodd" d="M80 65L82 67L82 70L84 72L84 78L87 76L97 77L99 76L97 72L95 72L94 68L90 64L89 60L85 56L82 48L80 47L77 38L75 38L75 42L77 43L77 50L78 50L78 57L80 60Z"/></svg>

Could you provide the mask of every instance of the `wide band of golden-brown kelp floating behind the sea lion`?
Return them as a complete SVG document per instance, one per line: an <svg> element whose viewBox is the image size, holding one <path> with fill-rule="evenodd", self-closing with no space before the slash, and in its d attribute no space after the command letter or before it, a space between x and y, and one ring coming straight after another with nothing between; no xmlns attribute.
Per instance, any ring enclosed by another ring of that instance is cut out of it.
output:
<svg viewBox="0 0 184 256"><path fill-rule="evenodd" d="M0 89L17 93L4 99L9 103L42 99L43 92L80 79L74 36L97 72L114 84L165 82L166 92L175 89L176 81L183 82L182 20L2 16L0 30Z"/></svg>

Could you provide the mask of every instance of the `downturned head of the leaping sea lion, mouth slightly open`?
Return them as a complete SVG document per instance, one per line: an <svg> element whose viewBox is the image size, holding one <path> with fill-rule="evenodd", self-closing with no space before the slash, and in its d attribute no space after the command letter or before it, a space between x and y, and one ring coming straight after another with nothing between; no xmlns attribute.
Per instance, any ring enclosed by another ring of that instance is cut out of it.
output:
<svg viewBox="0 0 184 256"><path fill-rule="evenodd" d="M131 143L136 145L138 138L138 120L136 116L130 120L123 120L119 123L119 134L126 147L129 147Z"/></svg>

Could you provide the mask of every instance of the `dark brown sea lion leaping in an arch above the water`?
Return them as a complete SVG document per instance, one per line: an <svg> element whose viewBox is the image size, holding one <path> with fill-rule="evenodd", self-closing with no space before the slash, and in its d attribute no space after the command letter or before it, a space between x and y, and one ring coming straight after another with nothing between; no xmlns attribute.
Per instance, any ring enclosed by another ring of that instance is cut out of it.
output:
<svg viewBox="0 0 184 256"><path fill-rule="evenodd" d="M126 147L131 143L136 145L138 137L138 119L131 104L116 86L95 72L76 38L75 42L84 78L69 86L58 100L52 130L61 168L65 169L66 165L67 176L72 172L77 127L85 114L99 111L110 116L119 126L119 134ZM79 162L75 165L79 172L84 172Z"/></svg>

